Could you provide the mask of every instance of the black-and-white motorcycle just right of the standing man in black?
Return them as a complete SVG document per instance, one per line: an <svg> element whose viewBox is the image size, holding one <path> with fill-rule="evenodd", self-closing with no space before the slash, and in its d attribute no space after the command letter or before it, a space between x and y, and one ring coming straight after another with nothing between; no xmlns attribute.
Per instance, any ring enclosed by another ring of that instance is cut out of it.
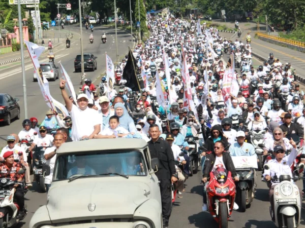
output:
<svg viewBox="0 0 305 228"><path fill-rule="evenodd" d="M200 158L198 153L198 137L186 137L185 142L189 143L189 157L190 157L190 176L198 172L200 166Z"/></svg>

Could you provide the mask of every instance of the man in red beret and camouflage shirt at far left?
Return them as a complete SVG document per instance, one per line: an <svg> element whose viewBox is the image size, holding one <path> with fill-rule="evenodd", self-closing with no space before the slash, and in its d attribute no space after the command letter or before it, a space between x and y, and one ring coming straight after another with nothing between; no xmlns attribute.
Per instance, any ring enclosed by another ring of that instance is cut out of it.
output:
<svg viewBox="0 0 305 228"><path fill-rule="evenodd" d="M6 153L3 154L3 158L4 162L3 159L0 158L0 161L2 161L2 163L0 163L0 178L10 178L11 180L17 180L18 182L21 182L24 174L18 174L20 166L14 162L14 151L6 151ZM14 188L16 189L14 197L20 207L18 217L23 218L25 215L24 192L19 184L15 184Z"/></svg>

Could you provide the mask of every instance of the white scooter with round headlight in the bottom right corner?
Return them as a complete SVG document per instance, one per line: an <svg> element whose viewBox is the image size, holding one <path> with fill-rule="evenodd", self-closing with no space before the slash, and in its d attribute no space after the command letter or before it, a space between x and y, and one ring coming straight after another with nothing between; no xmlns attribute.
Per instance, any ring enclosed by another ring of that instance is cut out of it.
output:
<svg viewBox="0 0 305 228"><path fill-rule="evenodd" d="M264 165L264 169L271 169L269 164ZM300 164L298 169L303 169L304 164ZM297 170L298 170L297 169ZM296 170L295 170L296 171ZM300 177L293 177L294 180ZM275 205L275 222L278 227L294 228L298 227L301 218L301 196L296 184L292 183L290 175L281 175L280 178L273 176L275 186L273 200ZM270 216L272 217L271 207Z"/></svg>

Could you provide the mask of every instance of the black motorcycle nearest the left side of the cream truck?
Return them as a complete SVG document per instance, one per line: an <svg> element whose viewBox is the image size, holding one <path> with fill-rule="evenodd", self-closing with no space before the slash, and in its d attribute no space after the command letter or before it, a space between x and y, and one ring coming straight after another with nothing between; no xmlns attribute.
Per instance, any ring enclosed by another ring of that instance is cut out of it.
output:
<svg viewBox="0 0 305 228"><path fill-rule="evenodd" d="M36 182L39 184L43 193L46 192L46 185L42 173L42 166L46 164L46 160L44 158L46 148L47 147L45 146L37 146L33 152L33 172Z"/></svg>

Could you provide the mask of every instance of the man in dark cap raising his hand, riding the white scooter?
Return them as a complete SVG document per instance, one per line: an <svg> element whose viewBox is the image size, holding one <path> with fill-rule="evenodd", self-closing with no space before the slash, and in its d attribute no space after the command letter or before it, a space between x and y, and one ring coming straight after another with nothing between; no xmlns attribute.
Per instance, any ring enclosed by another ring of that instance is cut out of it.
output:
<svg viewBox="0 0 305 228"><path fill-rule="evenodd" d="M276 145L273 148L273 156L275 159L271 159L268 161L267 164L270 165L271 169L264 170L263 177L266 181L271 181L271 187L269 189L269 200L271 204L271 211L272 211L272 221L275 221L275 205L273 200L273 193L277 183L273 183L272 177L275 175L280 177L281 175L290 175L292 177L292 172L290 166L293 164L296 156L297 156L297 147L295 142L291 139L290 144L293 146L289 155L285 156L285 149L282 145ZM301 197L302 194L300 193L299 196Z"/></svg>

